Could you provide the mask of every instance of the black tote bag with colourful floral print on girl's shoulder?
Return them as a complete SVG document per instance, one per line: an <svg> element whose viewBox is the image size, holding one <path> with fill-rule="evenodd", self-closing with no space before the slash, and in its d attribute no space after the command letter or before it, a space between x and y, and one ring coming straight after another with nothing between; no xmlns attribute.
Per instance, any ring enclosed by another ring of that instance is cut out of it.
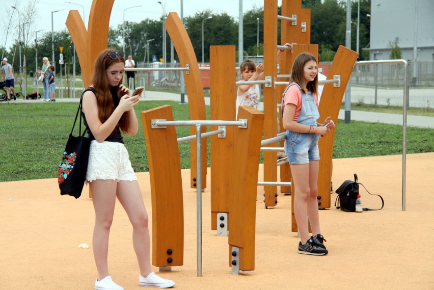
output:
<svg viewBox="0 0 434 290"><path fill-rule="evenodd" d="M89 89L85 90L88 91ZM85 93L83 92L83 94ZM87 127L82 133L82 102L83 94L80 98L77 114L75 115L74 124L69 134L68 142L62 154L59 164L58 181L61 195L70 195L79 198L86 181L86 172L88 169L89 148L91 140L85 137ZM78 114L80 114L78 136L73 136L75 123Z"/></svg>

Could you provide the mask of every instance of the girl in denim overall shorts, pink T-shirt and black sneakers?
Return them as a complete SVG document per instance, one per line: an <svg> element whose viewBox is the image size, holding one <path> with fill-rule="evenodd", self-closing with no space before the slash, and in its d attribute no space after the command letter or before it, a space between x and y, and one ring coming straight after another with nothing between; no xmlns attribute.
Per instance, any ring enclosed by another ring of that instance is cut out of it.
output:
<svg viewBox="0 0 434 290"><path fill-rule="evenodd" d="M285 151L295 185L294 215L301 242L299 253L326 255L324 237L319 228L318 215L318 140L335 127L330 117L318 123L317 108L318 67L307 52L294 60L290 85L282 98L282 119L286 131ZM309 235L308 219L313 235Z"/></svg>

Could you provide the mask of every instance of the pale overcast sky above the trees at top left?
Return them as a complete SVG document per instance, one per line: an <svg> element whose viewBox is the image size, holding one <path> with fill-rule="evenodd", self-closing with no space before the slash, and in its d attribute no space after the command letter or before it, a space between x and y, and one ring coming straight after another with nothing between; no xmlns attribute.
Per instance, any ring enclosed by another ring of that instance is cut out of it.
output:
<svg viewBox="0 0 434 290"><path fill-rule="evenodd" d="M38 1L38 0L37 0ZM29 0L0 0L0 43L3 46L6 40L6 29L8 21L11 17L11 13L14 12L10 6L17 3L16 7L22 15L24 14L25 8L30 3L35 3L36 1ZM69 10L78 10L80 15L83 17L83 8L85 13L85 24L88 25L90 8L92 5L92 0L39 0L37 4L38 16L35 21L36 30L42 30L38 33L38 38L42 33L51 33L51 11L61 10L62 11L53 13L53 27L54 31L60 31L66 29L66 18L68 16ZM65 2L71 2L74 4L67 4ZM166 13L176 12L181 16L181 1L180 0L161 0L161 3L166 8ZM129 7L142 5L142 7L131 8ZM242 10L245 13L248 10L256 7L263 7L263 0L243 0ZM278 5L281 5L281 1L278 1ZM201 12L203 10L209 9L214 13L226 12L230 16L238 17L239 15L239 0L183 0L183 17L188 17L194 15L196 12ZM163 12L163 7L157 3L157 0L128 0L121 1L115 0L112 9L112 16L110 18L110 27L117 28L119 24L123 22L125 11L125 20L140 22L145 18L149 19L159 19ZM15 19L14 19L15 18ZM15 22L14 22L15 21ZM210 20L208 20L210 21ZM12 22L18 23L18 14L16 11L12 15ZM9 48L12 45L13 40L16 39L17 35L14 30L13 35L7 37L6 47ZM35 39L35 35L32 37Z"/></svg>

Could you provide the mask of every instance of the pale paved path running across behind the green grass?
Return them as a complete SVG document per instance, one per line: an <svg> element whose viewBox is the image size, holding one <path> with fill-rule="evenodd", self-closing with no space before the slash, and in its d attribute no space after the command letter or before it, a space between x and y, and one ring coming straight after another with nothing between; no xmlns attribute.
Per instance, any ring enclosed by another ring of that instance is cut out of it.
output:
<svg viewBox="0 0 434 290"><path fill-rule="evenodd" d="M354 88L354 87L353 87ZM389 90L390 91L390 90ZM357 91L355 91L357 92ZM352 92L352 94L357 94ZM401 90L402 93L402 90ZM402 95L401 95L402 97ZM181 96L178 93L167 93L167 92L156 92L156 91L146 91L145 97L142 98L144 101L147 100L172 100L181 102ZM78 98L70 99L70 98L57 98L59 102L68 102L68 101L76 101L78 102ZM21 102L39 102L39 100L22 100L17 99L16 101L11 101L11 103L21 103ZM185 102L188 102L188 97L185 95ZM0 104L6 104L7 102L0 102ZM209 97L205 97L205 104L209 105L210 99ZM369 103L369 102L367 102ZM259 110L263 110L263 102L261 102L259 106ZM340 110L339 119L344 119L344 110ZM387 113L374 113L374 112L364 112L364 111L351 111L351 120L355 121L366 121L366 122L379 122L386 124L397 124L402 125L403 117L402 114L387 114ZM411 127L422 127L422 128L434 128L434 117L424 117L424 116L407 116L407 126Z"/></svg>

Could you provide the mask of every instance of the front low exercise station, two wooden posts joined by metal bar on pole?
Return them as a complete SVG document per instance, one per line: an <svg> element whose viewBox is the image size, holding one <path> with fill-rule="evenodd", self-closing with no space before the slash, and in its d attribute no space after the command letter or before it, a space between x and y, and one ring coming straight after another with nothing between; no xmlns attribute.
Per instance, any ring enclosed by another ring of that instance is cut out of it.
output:
<svg viewBox="0 0 434 290"><path fill-rule="evenodd" d="M157 267L180 266L183 263L183 205L181 168L175 129L171 126L196 126L197 170L201 171L202 125L237 126L234 128L234 159L228 170L239 182L231 196L229 235L231 259L235 274L239 270L254 269L256 184L259 170L259 150L263 114L253 108L242 107L238 121L173 121L170 106L141 113L149 160L152 195L152 265ZM221 130L213 134L222 135ZM190 137L187 137L191 139ZM186 138L182 138L185 141ZM246 150L244 142L250 144ZM164 158L160 155L164 154ZM253 171L256 174L251 174ZM171 178L167 178L171 176ZM197 275L202 276L202 190L200 174L197 186ZM176 222L174 222L176 221ZM243 221L243 222L241 222ZM247 224L246 224L247 223ZM170 239L167 237L170 236ZM154 244L157 243L157 244ZM235 260L235 261L234 261Z"/></svg>

